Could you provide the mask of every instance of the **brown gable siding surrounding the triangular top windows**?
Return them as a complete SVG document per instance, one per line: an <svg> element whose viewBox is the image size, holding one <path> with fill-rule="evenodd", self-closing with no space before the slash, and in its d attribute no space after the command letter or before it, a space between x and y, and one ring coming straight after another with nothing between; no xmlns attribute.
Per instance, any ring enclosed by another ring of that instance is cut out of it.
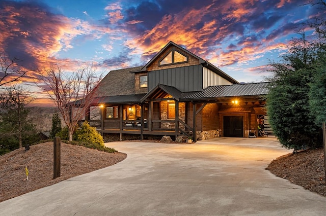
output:
<svg viewBox="0 0 326 216"><path fill-rule="evenodd" d="M165 55L167 55L169 52L171 52L172 49L175 49L176 51L182 53L183 55L188 57L188 61L185 63L177 63L177 64L170 64L170 65L162 65L159 66L159 61L161 60L162 57L164 57ZM193 56L187 55L186 53L184 53L182 50L180 50L177 47L172 47L171 49L167 49L164 53L162 53L160 56L158 56L156 58L155 61L153 61L153 63L151 65L149 65L147 67L148 71L152 71L152 70L161 70L161 69L169 69L169 68L175 68L175 67L184 67L184 66L191 66L191 65L199 65L199 60Z"/></svg>

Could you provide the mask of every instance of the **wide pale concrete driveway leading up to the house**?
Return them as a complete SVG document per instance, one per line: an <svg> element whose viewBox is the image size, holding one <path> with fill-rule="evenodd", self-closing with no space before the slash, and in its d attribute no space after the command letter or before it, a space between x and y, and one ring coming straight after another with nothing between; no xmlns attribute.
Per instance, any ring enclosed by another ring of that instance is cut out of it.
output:
<svg viewBox="0 0 326 216"><path fill-rule="evenodd" d="M265 170L273 138L111 142L128 157L0 203L0 215L325 215L326 198Z"/></svg>

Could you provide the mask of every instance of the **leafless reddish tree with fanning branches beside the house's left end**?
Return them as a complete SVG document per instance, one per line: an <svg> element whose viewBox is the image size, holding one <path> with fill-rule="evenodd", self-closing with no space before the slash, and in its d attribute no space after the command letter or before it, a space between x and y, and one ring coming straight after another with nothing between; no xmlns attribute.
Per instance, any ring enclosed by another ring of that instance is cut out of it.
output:
<svg viewBox="0 0 326 216"><path fill-rule="evenodd" d="M69 140L78 123L89 114L90 107L96 104L96 88L102 75L97 75L93 65L88 65L65 73L59 66L45 69L40 88L55 102L68 127Z"/></svg>

